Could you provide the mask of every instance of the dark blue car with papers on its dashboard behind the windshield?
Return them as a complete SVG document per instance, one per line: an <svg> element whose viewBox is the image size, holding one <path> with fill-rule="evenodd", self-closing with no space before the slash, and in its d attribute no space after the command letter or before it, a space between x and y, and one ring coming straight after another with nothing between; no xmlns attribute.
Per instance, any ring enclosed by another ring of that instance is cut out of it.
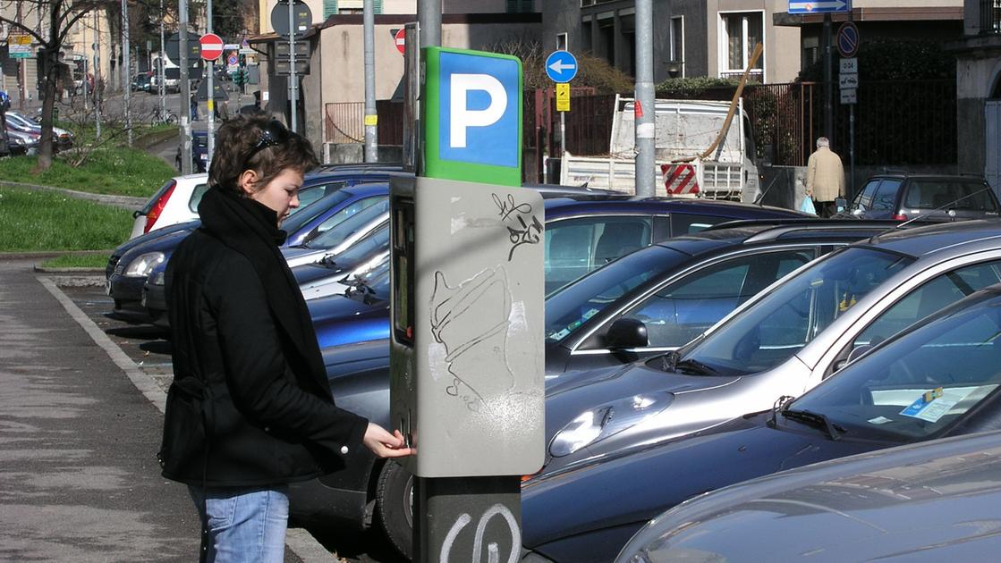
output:
<svg viewBox="0 0 1001 563"><path fill-rule="evenodd" d="M999 334L1001 288L992 287L892 336L792 402L525 483L523 539L533 554L523 561L611 561L648 520L707 491L996 429ZM837 537L837 528L827 531Z"/></svg>

